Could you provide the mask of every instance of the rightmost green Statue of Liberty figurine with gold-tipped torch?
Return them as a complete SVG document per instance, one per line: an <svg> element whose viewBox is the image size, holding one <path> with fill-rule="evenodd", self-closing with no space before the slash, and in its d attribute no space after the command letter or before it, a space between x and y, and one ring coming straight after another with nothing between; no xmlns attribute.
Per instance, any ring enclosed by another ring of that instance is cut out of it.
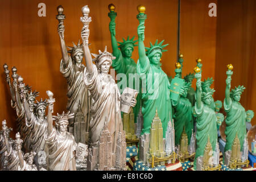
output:
<svg viewBox="0 0 256 182"><path fill-rule="evenodd" d="M245 87L239 85L230 92L233 65L229 64L227 67L228 71L226 72L227 78L224 99L224 110L226 112L226 145L224 152L232 150L232 144L234 138L236 137L236 133L240 140L240 150L242 150L243 141L245 140L246 136L246 111L239 102Z"/></svg>

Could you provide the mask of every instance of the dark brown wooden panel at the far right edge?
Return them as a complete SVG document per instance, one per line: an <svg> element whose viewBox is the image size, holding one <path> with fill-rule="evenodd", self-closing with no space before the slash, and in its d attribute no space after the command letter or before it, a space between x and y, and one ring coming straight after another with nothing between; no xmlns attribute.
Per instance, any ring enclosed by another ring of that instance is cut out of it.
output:
<svg viewBox="0 0 256 182"><path fill-rule="evenodd" d="M246 110L256 111L256 1L218 1L215 98L224 100L226 65L233 64L231 86L244 85L241 104ZM256 124L256 119L252 120Z"/></svg>

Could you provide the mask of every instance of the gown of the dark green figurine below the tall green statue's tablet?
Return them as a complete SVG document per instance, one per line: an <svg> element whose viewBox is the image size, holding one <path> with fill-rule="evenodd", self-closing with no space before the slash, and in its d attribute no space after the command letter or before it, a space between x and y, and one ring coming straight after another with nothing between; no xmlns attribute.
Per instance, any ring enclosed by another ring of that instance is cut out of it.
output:
<svg viewBox="0 0 256 182"><path fill-rule="evenodd" d="M191 139L193 129L192 105L188 98L180 97L179 101L172 101L174 107L174 130L175 146L180 143L180 137L185 127L185 133L188 136L188 144Z"/></svg>

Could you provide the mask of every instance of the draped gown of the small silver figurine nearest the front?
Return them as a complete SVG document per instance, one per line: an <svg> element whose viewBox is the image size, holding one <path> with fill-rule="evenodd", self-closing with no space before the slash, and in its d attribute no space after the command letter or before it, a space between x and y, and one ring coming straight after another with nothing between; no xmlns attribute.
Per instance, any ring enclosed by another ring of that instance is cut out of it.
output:
<svg viewBox="0 0 256 182"><path fill-rule="evenodd" d="M76 142L73 135L66 131L65 136L62 136L53 127L51 134L45 134L44 138L49 148L49 170L76 171Z"/></svg>

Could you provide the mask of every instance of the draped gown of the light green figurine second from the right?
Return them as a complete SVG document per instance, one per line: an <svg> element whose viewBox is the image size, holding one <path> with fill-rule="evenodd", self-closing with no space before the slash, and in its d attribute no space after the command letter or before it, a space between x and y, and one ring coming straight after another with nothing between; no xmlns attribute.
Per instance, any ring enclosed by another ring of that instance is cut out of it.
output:
<svg viewBox="0 0 256 182"><path fill-rule="evenodd" d="M218 139L217 134L217 116L214 110L210 106L201 104L201 108L195 104L195 111L197 116L196 121L196 156L194 162L194 168L196 169L196 159L199 156L204 155L204 149L207 144L208 137L210 138L210 144L212 150L215 150L216 142Z"/></svg>

